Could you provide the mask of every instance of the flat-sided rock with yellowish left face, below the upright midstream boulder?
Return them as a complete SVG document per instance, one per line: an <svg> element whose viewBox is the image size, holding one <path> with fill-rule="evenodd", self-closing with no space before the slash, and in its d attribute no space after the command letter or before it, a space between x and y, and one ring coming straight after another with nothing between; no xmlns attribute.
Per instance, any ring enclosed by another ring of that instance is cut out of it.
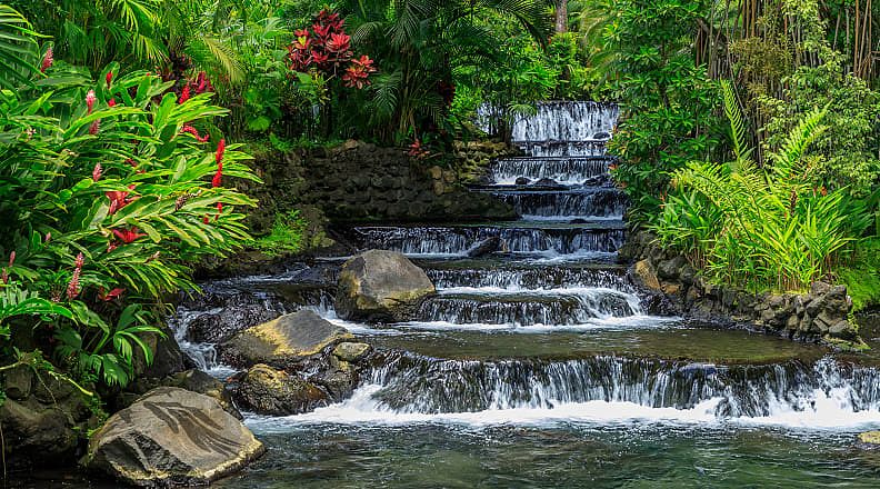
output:
<svg viewBox="0 0 880 489"><path fill-rule="evenodd" d="M248 328L219 349L221 358L234 366L296 368L326 348L352 338L344 328L303 309Z"/></svg>

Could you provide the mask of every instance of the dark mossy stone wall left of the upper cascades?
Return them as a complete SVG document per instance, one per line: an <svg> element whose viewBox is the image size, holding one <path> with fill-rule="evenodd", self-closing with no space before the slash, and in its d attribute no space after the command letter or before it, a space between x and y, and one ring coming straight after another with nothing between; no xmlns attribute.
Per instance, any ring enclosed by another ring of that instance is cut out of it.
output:
<svg viewBox="0 0 880 489"><path fill-rule="evenodd" d="M267 230L277 212L294 208L317 209L340 223L511 219L509 206L463 187L491 158L511 151L503 143L462 143L441 162L350 140L262 158L254 164L266 184L239 187L260 200L251 222L257 232Z"/></svg>

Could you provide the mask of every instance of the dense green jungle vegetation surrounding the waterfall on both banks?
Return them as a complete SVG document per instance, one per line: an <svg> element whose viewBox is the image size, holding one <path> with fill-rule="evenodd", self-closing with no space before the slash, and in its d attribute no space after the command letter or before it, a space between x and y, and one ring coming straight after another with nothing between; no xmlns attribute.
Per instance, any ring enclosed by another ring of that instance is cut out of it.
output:
<svg viewBox="0 0 880 489"><path fill-rule="evenodd" d="M621 104L630 220L706 275L866 307L879 58L871 0L7 0L4 363L124 386L193 263L253 244L259 148L442 153L552 99Z"/></svg>

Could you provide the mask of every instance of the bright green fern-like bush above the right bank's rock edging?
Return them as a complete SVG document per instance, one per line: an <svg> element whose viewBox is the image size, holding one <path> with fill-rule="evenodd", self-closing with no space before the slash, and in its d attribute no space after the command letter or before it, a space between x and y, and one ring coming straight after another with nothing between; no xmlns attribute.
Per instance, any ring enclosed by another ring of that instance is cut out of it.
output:
<svg viewBox="0 0 880 489"><path fill-rule="evenodd" d="M801 290L852 261L854 243L872 224L867 202L818 183L810 144L827 129L826 110L810 112L759 168L741 141L736 97L726 86L736 160L691 162L652 223L664 244L689 253L724 283L752 290Z"/></svg>

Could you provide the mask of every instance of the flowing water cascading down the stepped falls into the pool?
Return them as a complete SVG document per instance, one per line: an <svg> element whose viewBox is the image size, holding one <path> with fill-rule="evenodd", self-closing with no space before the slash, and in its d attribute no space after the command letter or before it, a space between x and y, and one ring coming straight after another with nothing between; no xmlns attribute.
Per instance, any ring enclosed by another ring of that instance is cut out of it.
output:
<svg viewBox="0 0 880 489"><path fill-rule="evenodd" d="M520 221L353 230L437 285L410 322L338 319L332 260L216 282L216 300L181 307L181 345L218 376L189 329L242 296L269 315L312 308L379 351L344 402L248 416L269 452L218 486L880 487L880 452L856 443L880 428L876 363L664 316L614 263L627 201L603 142L617 113L558 102L517 124L530 156L494 162L474 191ZM507 251L467 257L490 237Z"/></svg>

